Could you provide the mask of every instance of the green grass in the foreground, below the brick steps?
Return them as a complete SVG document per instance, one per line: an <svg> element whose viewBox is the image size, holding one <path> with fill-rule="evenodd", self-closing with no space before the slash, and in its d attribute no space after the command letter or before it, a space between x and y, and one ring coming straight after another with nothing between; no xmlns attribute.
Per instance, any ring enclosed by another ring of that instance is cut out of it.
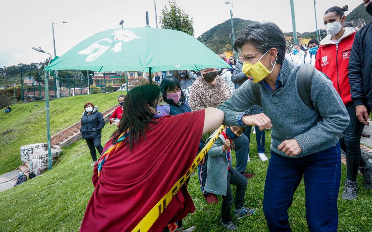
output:
<svg viewBox="0 0 372 232"><path fill-rule="evenodd" d="M106 125L102 131L102 144L108 139L114 125ZM269 132L266 132L269 134ZM244 219L233 219L240 231L268 231L262 212L264 181L268 162L261 162L255 149L255 136L252 135L251 161L248 171L256 176L248 179L245 205L256 208L256 212ZM271 137L266 136L266 151L269 151ZM267 153L267 152L266 152ZM268 155L269 156L269 155ZM234 159L235 155L232 156ZM93 192L91 182L92 160L86 143L80 140L68 147L58 160L59 164L43 176L26 181L10 190L0 193L0 228L11 231L78 231L86 205ZM346 166L342 165L342 177L346 178ZM358 175L358 199L344 201L341 199L343 184L339 193L339 231L370 231L372 226L372 191L365 190L363 177ZM193 175L188 189L196 206L196 211L189 214L185 227L196 225L198 231L224 231L221 226L221 202L217 205L206 204L199 188L198 178ZM235 188L233 187L233 191ZM294 195L294 202L289 209L289 222L292 231L308 231L305 212L305 192L303 183ZM319 209L322 210L322 209ZM234 215L234 214L232 214ZM234 218L234 217L233 217Z"/></svg>

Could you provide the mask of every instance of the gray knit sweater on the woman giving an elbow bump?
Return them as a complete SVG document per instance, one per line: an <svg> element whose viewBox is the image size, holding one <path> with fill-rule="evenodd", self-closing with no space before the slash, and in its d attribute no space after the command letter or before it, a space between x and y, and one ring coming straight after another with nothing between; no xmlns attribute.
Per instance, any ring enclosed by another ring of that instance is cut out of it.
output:
<svg viewBox="0 0 372 232"><path fill-rule="evenodd" d="M293 158L310 155L334 146L347 125L349 115L332 82L315 70L311 80L311 101L316 110L309 108L298 94L299 65L284 59L279 80L283 86L275 91L260 83L262 108L273 124L271 146L273 152L286 157L278 150L283 140L296 139L302 152ZM225 113L223 124L238 126L238 117L252 105L259 105L252 92L250 81L245 82L227 101L217 108Z"/></svg>

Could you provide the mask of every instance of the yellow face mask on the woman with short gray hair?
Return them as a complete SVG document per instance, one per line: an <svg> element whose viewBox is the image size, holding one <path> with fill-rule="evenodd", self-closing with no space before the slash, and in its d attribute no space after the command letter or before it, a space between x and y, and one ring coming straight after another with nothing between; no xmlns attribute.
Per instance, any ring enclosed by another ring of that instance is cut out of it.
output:
<svg viewBox="0 0 372 232"><path fill-rule="evenodd" d="M269 50L267 50L267 52L268 51ZM266 53L263 54L263 56L266 55ZM262 59L262 57L260 58L260 60ZM269 75L273 71L273 69L275 67L275 64L276 64L276 60L278 60L278 58L275 60L274 67L271 71L267 70L266 67L261 63L260 60L258 60L256 64L251 64L251 63L246 63L246 62L243 63L242 71L243 71L243 73L245 73L247 75L248 79L250 79L251 82L253 82L253 83L260 82L267 75Z"/></svg>

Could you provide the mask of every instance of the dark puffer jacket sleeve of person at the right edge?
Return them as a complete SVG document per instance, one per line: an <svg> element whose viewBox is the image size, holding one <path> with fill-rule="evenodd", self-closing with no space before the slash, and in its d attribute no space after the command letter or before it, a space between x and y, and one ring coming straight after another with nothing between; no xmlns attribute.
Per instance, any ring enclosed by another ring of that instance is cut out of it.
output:
<svg viewBox="0 0 372 232"><path fill-rule="evenodd" d="M358 32L359 33L355 34L349 58L350 93L355 106L363 105L363 76L362 62L360 59L360 32L362 32L362 30Z"/></svg>

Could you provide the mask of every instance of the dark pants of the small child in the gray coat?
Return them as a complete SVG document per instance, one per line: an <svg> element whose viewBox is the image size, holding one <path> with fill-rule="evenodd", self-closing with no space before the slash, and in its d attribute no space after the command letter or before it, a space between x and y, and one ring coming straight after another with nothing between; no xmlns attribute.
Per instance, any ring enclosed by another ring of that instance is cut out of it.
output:
<svg viewBox="0 0 372 232"><path fill-rule="evenodd" d="M222 196L221 205L221 217L222 222L227 224L231 221L231 206L234 201L234 196L232 195L230 184L236 185L235 191L235 209L241 209L244 205L244 195L247 189L247 178L237 172L235 169L230 168L227 172L227 189L226 196Z"/></svg>

